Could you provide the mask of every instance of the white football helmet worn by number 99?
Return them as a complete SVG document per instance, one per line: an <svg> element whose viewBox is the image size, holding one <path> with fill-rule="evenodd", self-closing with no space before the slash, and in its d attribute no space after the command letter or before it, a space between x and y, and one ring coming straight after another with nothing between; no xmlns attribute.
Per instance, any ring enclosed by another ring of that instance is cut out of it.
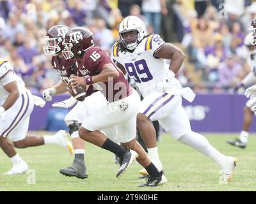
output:
<svg viewBox="0 0 256 204"><path fill-rule="evenodd" d="M124 39L124 33L129 32L133 32L133 36L131 34L130 38L125 37ZM119 36L122 44L129 50L134 50L147 34L144 22L135 16L124 18L119 27Z"/></svg>

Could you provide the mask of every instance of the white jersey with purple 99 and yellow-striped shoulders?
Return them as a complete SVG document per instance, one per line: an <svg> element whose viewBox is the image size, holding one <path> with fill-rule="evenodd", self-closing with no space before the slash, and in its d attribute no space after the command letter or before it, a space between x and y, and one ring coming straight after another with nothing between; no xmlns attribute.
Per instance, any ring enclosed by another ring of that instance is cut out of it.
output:
<svg viewBox="0 0 256 204"><path fill-rule="evenodd" d="M161 82L168 72L165 59L156 57L156 52L163 47L164 41L158 34L144 38L138 47L131 52L120 52L117 43L113 46L111 58L122 64L129 77L136 83L143 97L156 91L157 84ZM173 87L181 87L175 78Z"/></svg>

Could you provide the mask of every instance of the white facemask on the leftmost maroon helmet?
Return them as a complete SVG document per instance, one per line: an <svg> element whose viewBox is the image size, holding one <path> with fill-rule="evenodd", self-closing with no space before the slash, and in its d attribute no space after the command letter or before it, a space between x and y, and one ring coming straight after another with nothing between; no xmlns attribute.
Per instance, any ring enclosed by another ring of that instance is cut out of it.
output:
<svg viewBox="0 0 256 204"><path fill-rule="evenodd" d="M61 42L61 38L49 38L49 36L45 37L45 41L47 46L44 46L44 54L45 55L52 55L56 56L58 53L61 52L61 48L59 46Z"/></svg>

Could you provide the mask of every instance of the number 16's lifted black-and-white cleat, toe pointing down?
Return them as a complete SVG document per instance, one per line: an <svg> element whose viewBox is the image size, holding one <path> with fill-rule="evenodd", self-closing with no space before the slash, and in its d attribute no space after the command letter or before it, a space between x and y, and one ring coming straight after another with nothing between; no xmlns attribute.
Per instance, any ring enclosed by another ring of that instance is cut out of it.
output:
<svg viewBox="0 0 256 204"><path fill-rule="evenodd" d="M116 178L120 178L125 173L127 168L131 165L132 161L138 157L138 154L133 150L127 149L124 156L120 158L120 168L116 173Z"/></svg>

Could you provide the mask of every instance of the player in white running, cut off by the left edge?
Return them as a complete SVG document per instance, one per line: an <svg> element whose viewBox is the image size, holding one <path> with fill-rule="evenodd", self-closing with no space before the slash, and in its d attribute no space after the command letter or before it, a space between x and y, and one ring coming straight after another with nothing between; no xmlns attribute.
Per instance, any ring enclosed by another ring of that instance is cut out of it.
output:
<svg viewBox="0 0 256 204"><path fill-rule="evenodd" d="M28 165L17 154L15 147L55 143L65 147L70 153L73 150L65 131L59 131L54 136L26 136L34 104L44 106L45 102L25 88L24 82L15 75L8 61L0 59L0 147L13 163L6 175L28 170Z"/></svg>

